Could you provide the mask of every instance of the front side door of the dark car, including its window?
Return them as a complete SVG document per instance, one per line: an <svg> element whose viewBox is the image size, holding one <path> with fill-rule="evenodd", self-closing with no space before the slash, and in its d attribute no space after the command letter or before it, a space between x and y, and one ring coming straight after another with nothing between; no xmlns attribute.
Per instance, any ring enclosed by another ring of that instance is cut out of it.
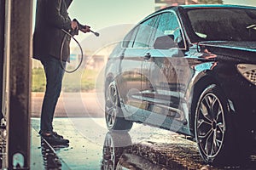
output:
<svg viewBox="0 0 256 170"><path fill-rule="evenodd" d="M187 78L187 73L183 68L187 66L187 60L183 58L182 28L174 12L160 14L153 46L148 51L151 59L147 92L151 97L144 111L146 123L177 130L185 120L182 101L186 81L183 79Z"/></svg>

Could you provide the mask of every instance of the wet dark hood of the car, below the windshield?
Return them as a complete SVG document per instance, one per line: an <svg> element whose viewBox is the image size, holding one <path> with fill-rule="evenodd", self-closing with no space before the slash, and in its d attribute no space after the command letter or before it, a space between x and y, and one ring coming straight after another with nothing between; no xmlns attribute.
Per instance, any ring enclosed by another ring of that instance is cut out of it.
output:
<svg viewBox="0 0 256 170"><path fill-rule="evenodd" d="M256 62L256 42L208 41L199 42L202 51Z"/></svg>

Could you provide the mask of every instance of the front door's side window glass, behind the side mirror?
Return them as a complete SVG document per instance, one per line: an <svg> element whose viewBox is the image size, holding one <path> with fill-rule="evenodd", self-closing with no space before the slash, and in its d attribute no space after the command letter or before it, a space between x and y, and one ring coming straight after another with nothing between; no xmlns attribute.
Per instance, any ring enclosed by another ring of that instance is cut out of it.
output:
<svg viewBox="0 0 256 170"><path fill-rule="evenodd" d="M160 15L160 21L155 33L154 41L156 38L163 36L169 36L170 41L176 43L177 47L185 47L177 16L172 12L166 12Z"/></svg>

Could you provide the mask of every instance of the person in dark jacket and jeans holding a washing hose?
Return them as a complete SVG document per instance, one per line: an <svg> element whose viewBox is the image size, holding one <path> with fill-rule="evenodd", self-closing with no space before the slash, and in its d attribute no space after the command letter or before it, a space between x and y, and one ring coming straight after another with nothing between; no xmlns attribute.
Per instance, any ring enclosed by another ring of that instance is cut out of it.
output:
<svg viewBox="0 0 256 170"><path fill-rule="evenodd" d="M70 19L67 8L73 0L38 0L36 12L36 25L33 35L33 58L39 59L44 65L46 76L46 91L41 111L40 134L50 144L68 144L53 131L53 117L55 106L61 94L61 82L64 75L62 66L69 59L70 37L63 38L65 32L77 32L77 21ZM85 26L81 31L90 31L90 26ZM64 41L62 56L61 44ZM61 60L62 59L62 60ZM62 62L62 64L61 64Z"/></svg>

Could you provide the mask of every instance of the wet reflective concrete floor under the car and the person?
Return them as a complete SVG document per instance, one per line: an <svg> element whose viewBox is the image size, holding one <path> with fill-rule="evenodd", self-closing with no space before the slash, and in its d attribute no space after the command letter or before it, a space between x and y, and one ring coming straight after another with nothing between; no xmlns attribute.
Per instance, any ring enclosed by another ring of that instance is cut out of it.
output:
<svg viewBox="0 0 256 170"><path fill-rule="evenodd" d="M39 119L32 118L31 169L256 169L209 167L196 144L183 135L134 124L129 133L109 133L104 118L55 118L55 131L70 140L52 147L38 135Z"/></svg>

